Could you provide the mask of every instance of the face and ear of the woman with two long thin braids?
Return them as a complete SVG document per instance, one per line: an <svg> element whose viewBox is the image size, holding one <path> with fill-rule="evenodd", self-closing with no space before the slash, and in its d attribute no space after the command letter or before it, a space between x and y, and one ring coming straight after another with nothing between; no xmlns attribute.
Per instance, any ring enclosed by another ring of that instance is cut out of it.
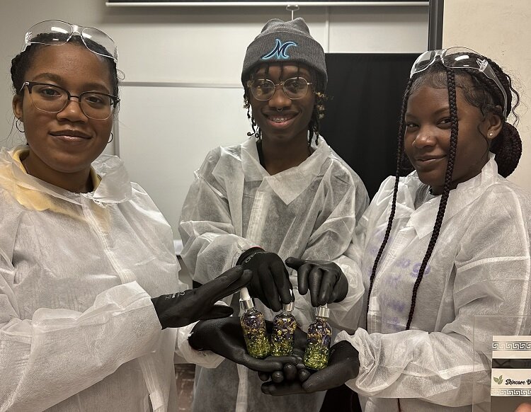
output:
<svg viewBox="0 0 531 412"><path fill-rule="evenodd" d="M499 132L496 115L482 115L456 88L459 135L451 188L481 172L489 160L490 141ZM450 105L446 88L421 85L409 96L404 150L423 183L439 195L445 182L450 149ZM489 133L493 133L492 136Z"/></svg>

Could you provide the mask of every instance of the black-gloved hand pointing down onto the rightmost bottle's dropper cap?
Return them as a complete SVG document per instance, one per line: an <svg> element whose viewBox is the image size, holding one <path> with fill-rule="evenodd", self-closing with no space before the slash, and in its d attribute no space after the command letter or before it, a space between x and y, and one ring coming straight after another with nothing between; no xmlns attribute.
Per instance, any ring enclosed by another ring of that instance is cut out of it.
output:
<svg viewBox="0 0 531 412"><path fill-rule="evenodd" d="M299 293L307 294L309 289L312 306L323 306L345 299L348 280L336 263L287 258L286 265L297 270Z"/></svg>

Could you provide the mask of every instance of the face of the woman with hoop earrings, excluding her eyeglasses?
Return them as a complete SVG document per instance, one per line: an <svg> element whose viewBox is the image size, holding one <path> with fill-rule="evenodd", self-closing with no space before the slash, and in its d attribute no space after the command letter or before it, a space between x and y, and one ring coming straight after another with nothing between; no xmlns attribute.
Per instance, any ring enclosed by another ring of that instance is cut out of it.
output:
<svg viewBox="0 0 531 412"><path fill-rule="evenodd" d="M70 43L41 47L24 80L54 84L73 96L84 91L113 94L105 57ZM13 112L23 121L30 149L26 168L54 184L72 176L88 178L91 163L105 149L113 125L112 115L106 120L87 118L76 98L59 113L42 112L33 105L27 87L22 96L13 98Z"/></svg>

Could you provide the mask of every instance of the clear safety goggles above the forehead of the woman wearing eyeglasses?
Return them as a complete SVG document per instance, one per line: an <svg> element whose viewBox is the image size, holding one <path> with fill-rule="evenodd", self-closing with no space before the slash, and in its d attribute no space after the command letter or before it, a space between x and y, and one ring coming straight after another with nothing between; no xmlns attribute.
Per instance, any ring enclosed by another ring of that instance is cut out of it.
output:
<svg viewBox="0 0 531 412"><path fill-rule="evenodd" d="M59 20L41 21L31 26L25 33L22 52L32 44L64 45L69 42L73 35L79 35L83 44L91 52L118 62L118 48L113 39L103 31Z"/></svg>

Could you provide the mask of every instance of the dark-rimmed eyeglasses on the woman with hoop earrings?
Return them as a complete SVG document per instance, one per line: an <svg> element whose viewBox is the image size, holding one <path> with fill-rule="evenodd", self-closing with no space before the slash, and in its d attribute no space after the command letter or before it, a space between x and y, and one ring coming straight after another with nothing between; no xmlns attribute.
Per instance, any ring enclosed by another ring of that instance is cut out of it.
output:
<svg viewBox="0 0 531 412"><path fill-rule="evenodd" d="M79 101L81 111L87 118L106 120L113 115L116 105L120 101L118 96L99 91L84 91L79 93L79 96L74 96L66 88L35 81L25 81L21 91L25 87L28 88L33 106L46 113L62 112L69 101L75 97Z"/></svg>

